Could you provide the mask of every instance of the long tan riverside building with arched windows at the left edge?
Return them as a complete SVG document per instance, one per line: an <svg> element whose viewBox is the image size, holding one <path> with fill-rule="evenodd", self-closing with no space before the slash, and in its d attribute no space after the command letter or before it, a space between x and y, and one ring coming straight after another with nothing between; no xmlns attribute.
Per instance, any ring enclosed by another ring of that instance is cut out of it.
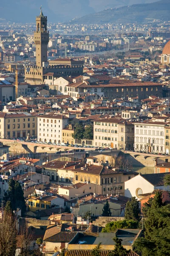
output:
<svg viewBox="0 0 170 256"><path fill-rule="evenodd" d="M0 137L19 138L37 137L37 116L27 112L1 112L0 113Z"/></svg>

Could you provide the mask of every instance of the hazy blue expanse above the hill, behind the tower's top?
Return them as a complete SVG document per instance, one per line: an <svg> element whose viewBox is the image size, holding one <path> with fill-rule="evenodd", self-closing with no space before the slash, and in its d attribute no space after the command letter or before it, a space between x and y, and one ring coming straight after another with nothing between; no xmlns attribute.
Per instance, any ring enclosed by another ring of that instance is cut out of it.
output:
<svg viewBox="0 0 170 256"><path fill-rule="evenodd" d="M49 22L63 22L106 8L152 2L155 0L0 0L0 18L34 22L42 5Z"/></svg>

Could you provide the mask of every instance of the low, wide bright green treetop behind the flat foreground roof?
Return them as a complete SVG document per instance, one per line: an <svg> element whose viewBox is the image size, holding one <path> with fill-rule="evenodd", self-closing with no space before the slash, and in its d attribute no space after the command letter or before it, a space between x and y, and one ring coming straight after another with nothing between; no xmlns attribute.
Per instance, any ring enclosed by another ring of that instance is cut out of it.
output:
<svg viewBox="0 0 170 256"><path fill-rule="evenodd" d="M111 233L116 231L119 228L135 229L137 227L138 227L138 221L133 221L133 220L111 221L106 224L106 226L102 229L102 232Z"/></svg>

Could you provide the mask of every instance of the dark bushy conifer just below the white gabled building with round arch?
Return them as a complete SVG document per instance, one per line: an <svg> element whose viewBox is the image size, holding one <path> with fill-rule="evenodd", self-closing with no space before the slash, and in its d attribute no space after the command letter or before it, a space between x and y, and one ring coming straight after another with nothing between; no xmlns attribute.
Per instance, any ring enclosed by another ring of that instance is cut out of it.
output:
<svg viewBox="0 0 170 256"><path fill-rule="evenodd" d="M139 202L135 197L132 197L132 199L128 201L126 204L125 219L139 221L140 220L139 214L140 214Z"/></svg>

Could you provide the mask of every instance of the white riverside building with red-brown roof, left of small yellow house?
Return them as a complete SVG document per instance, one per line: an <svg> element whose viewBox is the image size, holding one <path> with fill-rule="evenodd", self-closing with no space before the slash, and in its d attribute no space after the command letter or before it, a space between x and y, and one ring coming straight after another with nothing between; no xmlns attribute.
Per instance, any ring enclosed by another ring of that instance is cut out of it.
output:
<svg viewBox="0 0 170 256"><path fill-rule="evenodd" d="M37 118L38 141L61 143L62 129L66 128L69 118L63 114L49 113Z"/></svg>

